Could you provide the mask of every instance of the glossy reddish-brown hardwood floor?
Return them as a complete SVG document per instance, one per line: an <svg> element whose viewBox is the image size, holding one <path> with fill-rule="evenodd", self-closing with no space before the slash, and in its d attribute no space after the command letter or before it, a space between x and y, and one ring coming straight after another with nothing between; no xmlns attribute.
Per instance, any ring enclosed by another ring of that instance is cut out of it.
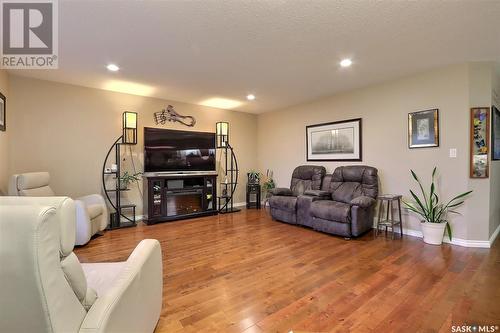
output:
<svg viewBox="0 0 500 333"><path fill-rule="evenodd" d="M163 250L156 332L450 332L500 325L500 244L492 249L321 234L264 210L139 225L76 249L122 261L144 238ZM498 330L497 330L498 331Z"/></svg>

